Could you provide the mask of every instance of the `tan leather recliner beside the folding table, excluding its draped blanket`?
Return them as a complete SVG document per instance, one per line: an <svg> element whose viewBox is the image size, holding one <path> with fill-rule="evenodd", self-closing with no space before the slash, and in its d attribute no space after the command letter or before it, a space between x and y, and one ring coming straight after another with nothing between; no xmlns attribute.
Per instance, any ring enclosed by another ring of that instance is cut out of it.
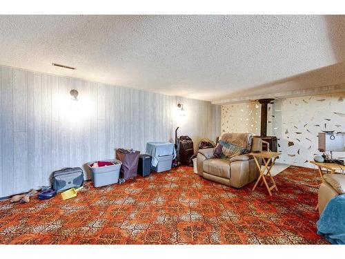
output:
<svg viewBox="0 0 345 259"><path fill-rule="evenodd" d="M223 136L222 136L223 137ZM259 170L251 155L238 155L229 160L215 158L215 148L200 149L197 154L198 175L235 188L241 188L259 177ZM252 138L250 151L262 151L262 140ZM261 160L259 160L261 163Z"/></svg>

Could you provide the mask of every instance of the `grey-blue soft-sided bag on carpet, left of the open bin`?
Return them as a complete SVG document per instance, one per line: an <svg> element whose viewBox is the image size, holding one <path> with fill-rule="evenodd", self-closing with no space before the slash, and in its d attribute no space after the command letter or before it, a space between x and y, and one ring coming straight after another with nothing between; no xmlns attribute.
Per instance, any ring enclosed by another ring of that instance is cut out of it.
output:
<svg viewBox="0 0 345 259"><path fill-rule="evenodd" d="M52 189L57 192L79 188L83 185L83 182L83 170L80 167L69 167L52 172Z"/></svg>

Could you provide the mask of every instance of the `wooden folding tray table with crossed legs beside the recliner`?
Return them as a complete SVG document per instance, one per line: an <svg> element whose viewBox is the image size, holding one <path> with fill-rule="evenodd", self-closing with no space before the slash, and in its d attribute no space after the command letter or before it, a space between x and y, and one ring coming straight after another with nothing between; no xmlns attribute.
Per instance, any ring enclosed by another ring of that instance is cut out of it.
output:
<svg viewBox="0 0 345 259"><path fill-rule="evenodd" d="M275 160L277 160L277 157L279 157L279 155L282 155L282 153L270 152L270 151L261 151L259 153L253 153L252 152L252 153L249 153L248 155L253 155L255 163L257 164L257 169L259 169L259 172L260 172L260 176L259 176L259 178L257 178L257 182L255 182L255 185L253 187L253 191L257 187L257 184L259 183L259 181L262 179L262 184L263 183L265 184L268 193L272 196L271 190L275 189L275 191L278 191L278 188L277 188L277 184L275 184L275 180L273 179L272 175L270 174L270 169L272 169L272 167L275 165ZM259 161L257 161L258 157L261 157L262 160L264 160L265 166L263 169L262 169L261 163L259 163ZM271 161L272 161L272 163L270 164ZM268 164L270 164L270 165L268 165ZM265 174L265 172L266 172L266 174ZM270 178L270 180L273 182L272 186L268 186L268 183L266 181L265 176L268 176Z"/></svg>

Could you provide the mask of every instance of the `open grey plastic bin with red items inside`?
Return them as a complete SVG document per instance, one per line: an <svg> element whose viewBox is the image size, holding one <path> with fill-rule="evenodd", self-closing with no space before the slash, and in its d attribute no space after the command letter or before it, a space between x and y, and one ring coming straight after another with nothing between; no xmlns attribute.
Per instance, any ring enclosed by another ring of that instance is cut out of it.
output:
<svg viewBox="0 0 345 259"><path fill-rule="evenodd" d="M92 173L92 184L95 187L105 186L109 184L116 184L119 182L119 174L121 168L121 161L119 160L102 160L106 162L115 162L113 166L91 167L97 161L88 163L88 168Z"/></svg>

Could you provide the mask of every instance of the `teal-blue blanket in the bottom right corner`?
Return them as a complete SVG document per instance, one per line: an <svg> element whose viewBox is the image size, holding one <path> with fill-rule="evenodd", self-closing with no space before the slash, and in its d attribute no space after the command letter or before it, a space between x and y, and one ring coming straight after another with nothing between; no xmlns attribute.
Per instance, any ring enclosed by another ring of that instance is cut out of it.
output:
<svg viewBox="0 0 345 259"><path fill-rule="evenodd" d="M332 244L345 244L345 194L328 202L317 221L317 233Z"/></svg>

